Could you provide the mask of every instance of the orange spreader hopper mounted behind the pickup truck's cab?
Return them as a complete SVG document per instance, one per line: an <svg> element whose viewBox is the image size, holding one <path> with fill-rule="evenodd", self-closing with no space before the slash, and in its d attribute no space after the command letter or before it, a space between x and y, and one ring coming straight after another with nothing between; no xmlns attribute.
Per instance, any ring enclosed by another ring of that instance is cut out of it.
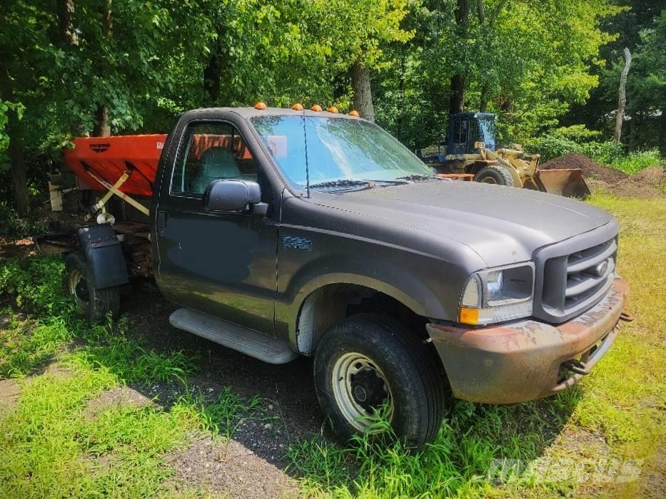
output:
<svg viewBox="0 0 666 499"><path fill-rule="evenodd" d="M165 141L166 134L80 137L74 139L74 149L64 150L63 160L91 189L104 191L106 187L89 172L111 185L129 172L120 190L150 196Z"/></svg>

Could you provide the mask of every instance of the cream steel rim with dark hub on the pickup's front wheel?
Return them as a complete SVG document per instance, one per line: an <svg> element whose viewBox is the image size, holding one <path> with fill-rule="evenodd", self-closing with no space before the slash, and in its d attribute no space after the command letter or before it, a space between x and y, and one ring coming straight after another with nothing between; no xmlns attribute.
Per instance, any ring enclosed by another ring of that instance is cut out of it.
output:
<svg viewBox="0 0 666 499"><path fill-rule="evenodd" d="M345 420L356 430L365 431L370 424L377 421L378 415L373 408L379 408L383 403L386 404L383 416L389 422L393 419L390 386L384 373L368 356L348 352L338 357L333 365L331 381L335 403ZM373 399L376 401L378 398L383 398L382 403L373 403ZM365 401L365 404L360 400Z"/></svg>

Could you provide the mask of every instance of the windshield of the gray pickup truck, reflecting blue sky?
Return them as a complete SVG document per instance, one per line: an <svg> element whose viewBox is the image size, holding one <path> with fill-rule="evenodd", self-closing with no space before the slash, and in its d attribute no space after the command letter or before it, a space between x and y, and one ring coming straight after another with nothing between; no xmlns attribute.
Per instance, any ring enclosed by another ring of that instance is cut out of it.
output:
<svg viewBox="0 0 666 499"><path fill-rule="evenodd" d="M264 145L298 187L338 180L375 182L433 176L404 145L367 121L327 116L251 118Z"/></svg>

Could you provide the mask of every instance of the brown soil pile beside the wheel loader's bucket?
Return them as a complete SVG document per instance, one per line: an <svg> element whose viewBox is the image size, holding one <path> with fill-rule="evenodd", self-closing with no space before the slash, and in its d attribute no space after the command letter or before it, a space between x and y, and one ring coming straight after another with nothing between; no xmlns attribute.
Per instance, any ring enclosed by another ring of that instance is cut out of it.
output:
<svg viewBox="0 0 666 499"><path fill-rule="evenodd" d="M663 197L666 186L666 171L661 168L646 168L635 175L627 175L607 168L582 154L565 154L540 165L540 170L580 168L587 185L627 197Z"/></svg>

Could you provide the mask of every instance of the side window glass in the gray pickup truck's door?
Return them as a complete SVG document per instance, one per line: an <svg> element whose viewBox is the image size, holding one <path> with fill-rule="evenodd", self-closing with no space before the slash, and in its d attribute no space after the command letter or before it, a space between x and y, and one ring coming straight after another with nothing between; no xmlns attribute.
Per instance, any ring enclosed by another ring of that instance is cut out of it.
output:
<svg viewBox="0 0 666 499"><path fill-rule="evenodd" d="M257 166L245 140L229 123L192 123L178 151L173 194L203 194L213 180L257 180Z"/></svg>

